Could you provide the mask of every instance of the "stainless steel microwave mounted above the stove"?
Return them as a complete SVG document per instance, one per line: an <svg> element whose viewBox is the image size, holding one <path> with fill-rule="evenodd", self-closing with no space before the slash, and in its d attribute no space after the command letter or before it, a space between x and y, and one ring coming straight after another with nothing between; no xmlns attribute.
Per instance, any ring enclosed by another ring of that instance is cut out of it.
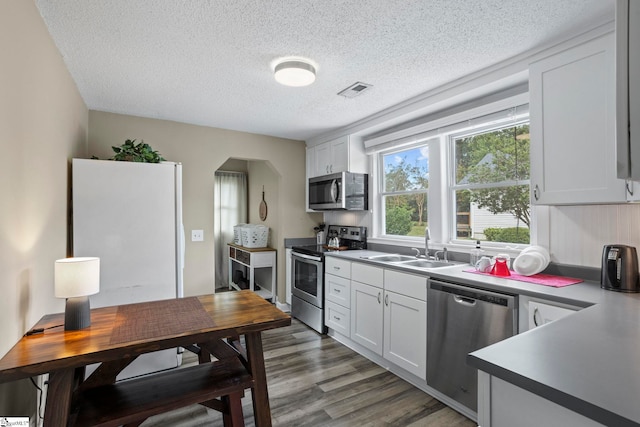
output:
<svg viewBox="0 0 640 427"><path fill-rule="evenodd" d="M369 209L369 175L340 172L309 178L309 208L366 211Z"/></svg>

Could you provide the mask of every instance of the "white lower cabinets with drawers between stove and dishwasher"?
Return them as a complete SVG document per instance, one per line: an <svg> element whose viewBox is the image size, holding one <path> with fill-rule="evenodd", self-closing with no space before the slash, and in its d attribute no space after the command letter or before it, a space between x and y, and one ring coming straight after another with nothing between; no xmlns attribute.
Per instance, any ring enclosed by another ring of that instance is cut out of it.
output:
<svg viewBox="0 0 640 427"><path fill-rule="evenodd" d="M335 275L347 270L351 280ZM327 327L426 381L426 276L360 262L327 268L325 303Z"/></svg>

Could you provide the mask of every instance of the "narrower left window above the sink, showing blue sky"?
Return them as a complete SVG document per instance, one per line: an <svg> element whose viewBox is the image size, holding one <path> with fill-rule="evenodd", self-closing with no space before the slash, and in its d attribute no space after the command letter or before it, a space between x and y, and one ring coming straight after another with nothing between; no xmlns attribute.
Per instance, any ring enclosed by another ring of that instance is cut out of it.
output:
<svg viewBox="0 0 640 427"><path fill-rule="evenodd" d="M384 234L424 236L428 223L428 144L380 155Z"/></svg>

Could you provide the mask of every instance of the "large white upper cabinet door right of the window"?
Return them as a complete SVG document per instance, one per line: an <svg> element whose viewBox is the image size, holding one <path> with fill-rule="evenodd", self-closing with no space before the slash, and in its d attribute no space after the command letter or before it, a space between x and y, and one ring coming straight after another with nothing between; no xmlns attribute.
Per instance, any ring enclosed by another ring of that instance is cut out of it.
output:
<svg viewBox="0 0 640 427"><path fill-rule="evenodd" d="M531 201L625 201L616 174L613 34L531 64Z"/></svg>

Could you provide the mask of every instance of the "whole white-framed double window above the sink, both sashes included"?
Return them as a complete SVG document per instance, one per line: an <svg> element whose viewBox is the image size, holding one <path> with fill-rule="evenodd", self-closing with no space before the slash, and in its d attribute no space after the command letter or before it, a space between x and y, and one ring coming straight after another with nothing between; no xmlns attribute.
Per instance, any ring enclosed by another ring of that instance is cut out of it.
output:
<svg viewBox="0 0 640 427"><path fill-rule="evenodd" d="M529 106L520 99L366 140L377 155L372 237L419 246L429 227L436 244L528 244Z"/></svg>

